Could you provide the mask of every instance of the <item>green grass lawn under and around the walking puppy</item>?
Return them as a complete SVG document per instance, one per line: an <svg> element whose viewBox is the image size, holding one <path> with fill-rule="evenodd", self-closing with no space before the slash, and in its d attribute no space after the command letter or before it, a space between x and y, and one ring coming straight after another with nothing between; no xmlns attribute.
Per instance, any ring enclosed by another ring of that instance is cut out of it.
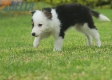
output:
<svg viewBox="0 0 112 80"><path fill-rule="evenodd" d="M112 10L97 10L112 21ZM53 38L32 46L31 15L0 14L0 80L112 80L112 23L96 19L102 46L70 29L63 51L53 52Z"/></svg>

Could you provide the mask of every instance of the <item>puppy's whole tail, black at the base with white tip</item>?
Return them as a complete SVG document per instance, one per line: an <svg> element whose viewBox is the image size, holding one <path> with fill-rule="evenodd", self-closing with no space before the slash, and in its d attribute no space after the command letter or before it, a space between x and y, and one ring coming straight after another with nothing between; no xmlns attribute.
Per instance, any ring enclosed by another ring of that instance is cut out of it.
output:
<svg viewBox="0 0 112 80"><path fill-rule="evenodd" d="M98 19L101 20L101 21L109 21L109 22L110 22L110 19L107 18L107 17L106 17L105 15L103 15L103 14L100 14L100 13L98 13L98 12L96 12L96 11L93 11L93 10L90 10L90 13L91 13L94 17L98 18Z"/></svg>

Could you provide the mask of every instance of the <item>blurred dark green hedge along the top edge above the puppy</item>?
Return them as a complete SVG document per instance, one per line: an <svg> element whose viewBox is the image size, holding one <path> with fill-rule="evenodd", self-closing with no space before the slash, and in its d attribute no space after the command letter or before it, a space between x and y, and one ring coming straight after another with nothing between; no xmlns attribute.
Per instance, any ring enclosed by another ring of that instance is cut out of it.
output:
<svg viewBox="0 0 112 80"><path fill-rule="evenodd" d="M65 3L78 3L91 8L112 8L112 0L24 0L25 2L45 2L48 4L59 5Z"/></svg>

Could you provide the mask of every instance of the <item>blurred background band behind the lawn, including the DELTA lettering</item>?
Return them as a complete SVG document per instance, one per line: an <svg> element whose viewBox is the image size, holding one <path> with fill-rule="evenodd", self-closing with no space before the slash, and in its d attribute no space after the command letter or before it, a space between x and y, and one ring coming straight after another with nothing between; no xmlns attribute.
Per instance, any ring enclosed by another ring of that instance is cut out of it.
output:
<svg viewBox="0 0 112 80"><path fill-rule="evenodd" d="M21 14L30 15L30 10L41 10L44 7L67 3L77 3L95 10L112 9L112 0L0 0L0 18Z"/></svg>

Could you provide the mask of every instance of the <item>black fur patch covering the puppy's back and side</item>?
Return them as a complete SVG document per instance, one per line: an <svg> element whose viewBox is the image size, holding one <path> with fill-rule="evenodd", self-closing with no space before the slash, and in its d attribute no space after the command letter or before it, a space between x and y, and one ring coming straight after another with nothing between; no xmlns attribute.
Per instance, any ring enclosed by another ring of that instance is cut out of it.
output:
<svg viewBox="0 0 112 80"><path fill-rule="evenodd" d="M90 10L89 8L78 4L64 4L57 6L56 13L61 22L60 35L64 38L65 31L76 23L84 24L88 23L89 28L95 28L92 15L98 17L98 13Z"/></svg>

